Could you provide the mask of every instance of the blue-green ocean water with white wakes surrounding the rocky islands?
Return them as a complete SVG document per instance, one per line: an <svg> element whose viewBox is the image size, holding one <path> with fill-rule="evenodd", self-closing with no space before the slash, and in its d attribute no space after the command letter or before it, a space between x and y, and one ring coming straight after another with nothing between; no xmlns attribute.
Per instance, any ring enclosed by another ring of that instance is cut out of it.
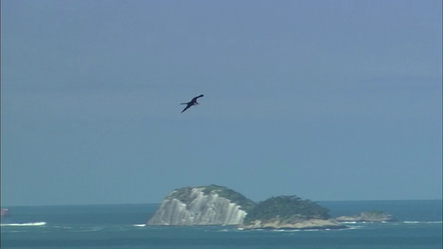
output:
<svg viewBox="0 0 443 249"><path fill-rule="evenodd" d="M144 226L159 204L12 206L1 248L442 248L442 201L318 201L331 216L383 210L390 223L343 230Z"/></svg>

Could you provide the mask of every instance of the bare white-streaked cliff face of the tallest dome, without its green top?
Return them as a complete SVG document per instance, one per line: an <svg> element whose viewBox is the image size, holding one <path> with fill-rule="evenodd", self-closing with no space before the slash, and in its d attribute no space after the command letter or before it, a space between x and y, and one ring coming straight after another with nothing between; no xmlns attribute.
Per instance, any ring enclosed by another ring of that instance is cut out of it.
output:
<svg viewBox="0 0 443 249"><path fill-rule="evenodd" d="M204 194L204 187L194 187L188 204L172 197L163 200L147 225L238 225L246 212L217 192Z"/></svg>

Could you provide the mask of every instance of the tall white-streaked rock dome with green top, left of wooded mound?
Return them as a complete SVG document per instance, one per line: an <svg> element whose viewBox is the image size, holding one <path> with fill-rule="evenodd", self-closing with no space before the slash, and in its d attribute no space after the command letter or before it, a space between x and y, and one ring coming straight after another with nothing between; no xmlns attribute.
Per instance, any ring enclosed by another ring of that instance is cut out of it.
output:
<svg viewBox="0 0 443 249"><path fill-rule="evenodd" d="M163 199L147 225L238 225L254 205L227 187L183 187Z"/></svg>

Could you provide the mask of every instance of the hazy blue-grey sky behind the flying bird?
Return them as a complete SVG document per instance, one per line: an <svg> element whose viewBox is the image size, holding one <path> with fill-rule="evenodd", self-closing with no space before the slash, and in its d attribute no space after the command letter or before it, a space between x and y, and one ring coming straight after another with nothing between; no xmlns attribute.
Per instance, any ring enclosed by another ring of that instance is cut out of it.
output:
<svg viewBox="0 0 443 249"><path fill-rule="evenodd" d="M2 207L210 184L442 199L442 1L1 1Z"/></svg>

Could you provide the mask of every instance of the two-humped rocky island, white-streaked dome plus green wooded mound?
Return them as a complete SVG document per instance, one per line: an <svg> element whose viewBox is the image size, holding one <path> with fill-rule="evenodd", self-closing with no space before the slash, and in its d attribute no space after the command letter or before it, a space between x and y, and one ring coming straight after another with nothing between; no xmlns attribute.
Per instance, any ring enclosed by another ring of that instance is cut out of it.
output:
<svg viewBox="0 0 443 249"><path fill-rule="evenodd" d="M239 229L342 229L329 210L297 196L254 203L227 187L183 187L163 199L147 225L237 225Z"/></svg>

